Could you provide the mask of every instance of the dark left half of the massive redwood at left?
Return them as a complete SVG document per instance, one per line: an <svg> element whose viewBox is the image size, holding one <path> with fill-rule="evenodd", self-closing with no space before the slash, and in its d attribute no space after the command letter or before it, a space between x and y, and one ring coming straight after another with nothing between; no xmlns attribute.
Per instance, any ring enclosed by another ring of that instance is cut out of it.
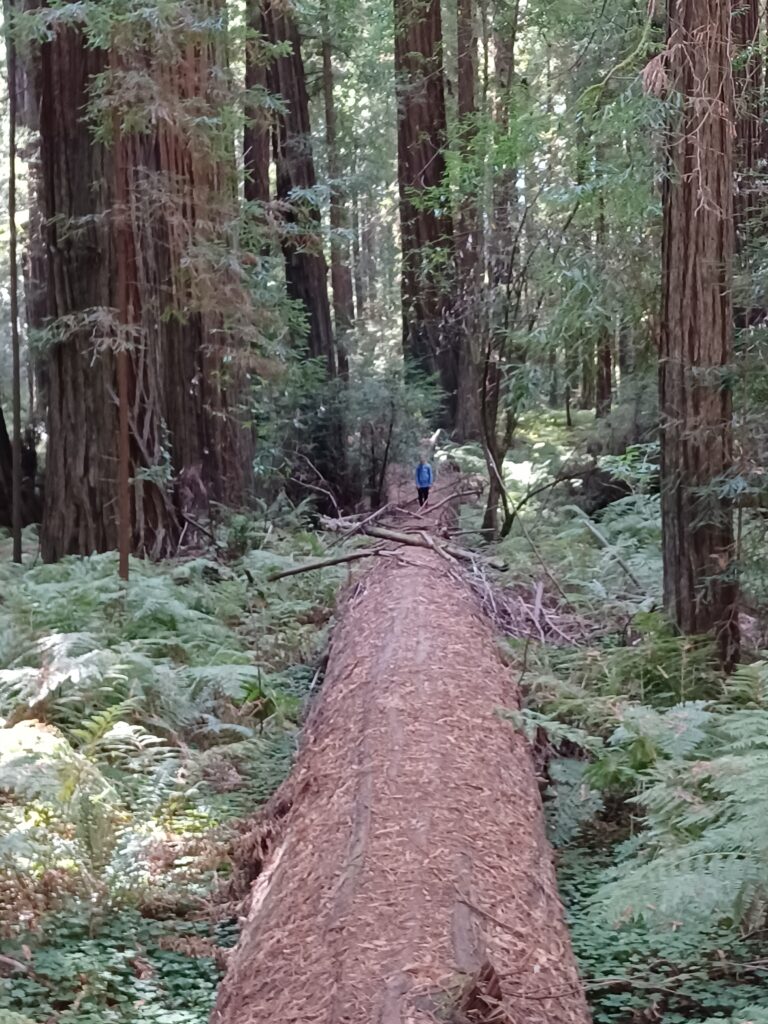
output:
<svg viewBox="0 0 768 1024"><path fill-rule="evenodd" d="M88 314L114 306L105 211L111 160L83 109L102 51L59 28L42 47L40 140L48 252L47 313L66 330L48 357L48 452L41 534L46 561L117 546L117 406L110 337ZM73 174L72 168L78 173ZM68 327L69 325L69 327ZM98 343L100 341L100 344Z"/></svg>

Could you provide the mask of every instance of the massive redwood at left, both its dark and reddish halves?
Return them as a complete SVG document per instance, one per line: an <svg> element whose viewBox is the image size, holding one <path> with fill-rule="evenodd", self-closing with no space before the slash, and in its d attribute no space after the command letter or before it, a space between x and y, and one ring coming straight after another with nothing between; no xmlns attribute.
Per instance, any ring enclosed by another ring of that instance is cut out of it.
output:
<svg viewBox="0 0 768 1024"><path fill-rule="evenodd" d="M210 13L218 2L195 0L187 12ZM103 36L91 39L88 23L71 13L53 23L40 53L44 294L55 337L46 366L42 549L55 559L116 547L115 396L127 387L131 546L160 556L177 549L184 514L174 477L183 483L191 475L209 498L239 504L251 472L240 410L243 353L227 340L240 332L234 317L244 293L217 255L227 242L222 225L234 200L234 163L190 118L194 112L203 124L215 120L211 112L220 104L211 83L224 76L212 73L222 67L208 35L213 22L190 17L179 28L179 12L170 9L165 25L151 13L118 19L112 47L124 60L111 67ZM178 55L173 67L169 52ZM162 117L126 88L137 77L162 96ZM141 126L123 140L122 197L114 151L88 117L94 97L118 135L120 126ZM121 224L127 227L119 231ZM118 233L127 297L117 290ZM114 315L126 303L128 324L126 308ZM129 353L127 379L116 377L116 347Z"/></svg>

